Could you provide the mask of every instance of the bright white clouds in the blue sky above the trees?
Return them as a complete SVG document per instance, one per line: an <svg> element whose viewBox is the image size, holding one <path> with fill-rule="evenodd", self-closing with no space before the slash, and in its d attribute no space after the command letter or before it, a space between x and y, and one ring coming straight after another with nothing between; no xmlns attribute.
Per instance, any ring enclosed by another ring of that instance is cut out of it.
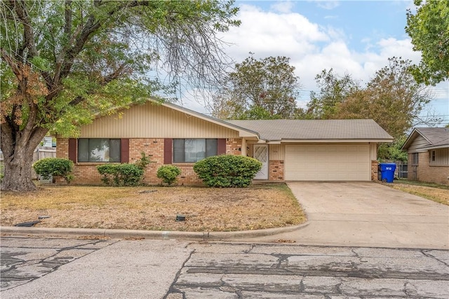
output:
<svg viewBox="0 0 449 299"><path fill-rule="evenodd" d="M242 5L238 17L242 21L241 26L231 28L223 39L234 43L227 53L236 62L246 59L250 52L255 53L256 59L281 55L290 57L290 64L295 67L303 86L302 96L298 99L300 106L308 102L310 90L318 89L314 78L323 69L333 68L339 75L350 74L365 84L373 78L375 71L387 65L389 57L402 57L414 63L420 61L420 53L413 51L408 37L380 39L375 35L367 36L362 41L366 48L356 51L347 43L350 32L322 27L300 13L290 12L289 5L290 2L281 2L274 8L276 12ZM198 103L194 104L194 110L199 107Z"/></svg>

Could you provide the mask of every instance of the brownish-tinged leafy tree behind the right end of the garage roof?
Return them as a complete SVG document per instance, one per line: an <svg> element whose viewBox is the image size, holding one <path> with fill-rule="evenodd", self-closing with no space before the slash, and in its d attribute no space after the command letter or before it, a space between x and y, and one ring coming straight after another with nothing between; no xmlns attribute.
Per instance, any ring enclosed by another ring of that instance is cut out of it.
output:
<svg viewBox="0 0 449 299"><path fill-rule="evenodd" d="M389 58L366 88L337 105L332 118L371 118L395 139L415 124L431 100L428 88L410 74L410 60Z"/></svg>

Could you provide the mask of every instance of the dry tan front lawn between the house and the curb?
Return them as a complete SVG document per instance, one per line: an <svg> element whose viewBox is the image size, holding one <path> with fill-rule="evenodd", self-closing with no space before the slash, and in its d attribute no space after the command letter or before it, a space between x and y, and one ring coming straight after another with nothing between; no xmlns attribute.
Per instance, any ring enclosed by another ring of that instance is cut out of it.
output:
<svg viewBox="0 0 449 299"><path fill-rule="evenodd" d="M33 193L1 193L1 225L45 218L48 228L232 231L303 223L285 184L250 188L39 186ZM175 221L177 214L186 221Z"/></svg>

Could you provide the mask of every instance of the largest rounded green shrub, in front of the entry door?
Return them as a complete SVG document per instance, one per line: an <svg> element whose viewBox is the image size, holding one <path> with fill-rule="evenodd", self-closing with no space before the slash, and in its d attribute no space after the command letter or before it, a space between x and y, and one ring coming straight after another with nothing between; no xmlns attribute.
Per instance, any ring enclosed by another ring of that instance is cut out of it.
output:
<svg viewBox="0 0 449 299"><path fill-rule="evenodd" d="M261 167L243 155L215 155L196 162L194 172L209 187L248 187Z"/></svg>

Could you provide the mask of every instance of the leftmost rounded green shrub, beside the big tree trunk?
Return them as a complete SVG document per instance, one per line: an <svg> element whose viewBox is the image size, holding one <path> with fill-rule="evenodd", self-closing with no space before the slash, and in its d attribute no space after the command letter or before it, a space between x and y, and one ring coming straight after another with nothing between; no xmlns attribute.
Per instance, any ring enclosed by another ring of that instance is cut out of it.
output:
<svg viewBox="0 0 449 299"><path fill-rule="evenodd" d="M67 159L60 158L44 158L33 165L36 174L39 174L43 179L49 179L50 176L61 176L67 183L70 183L74 176L73 162Z"/></svg>

